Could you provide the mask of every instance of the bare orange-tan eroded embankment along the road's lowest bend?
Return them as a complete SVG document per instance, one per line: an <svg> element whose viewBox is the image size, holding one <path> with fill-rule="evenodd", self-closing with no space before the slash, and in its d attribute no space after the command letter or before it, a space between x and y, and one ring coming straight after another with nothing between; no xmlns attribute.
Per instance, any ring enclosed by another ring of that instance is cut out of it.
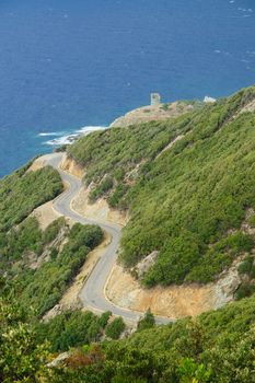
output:
<svg viewBox="0 0 255 383"><path fill-rule="evenodd" d="M116 305L137 311L151 311L157 315L181 318L196 316L219 309L233 300L240 283L235 265L217 283L184 285L167 288L142 289L123 267L116 265L109 277L106 294Z"/></svg>

